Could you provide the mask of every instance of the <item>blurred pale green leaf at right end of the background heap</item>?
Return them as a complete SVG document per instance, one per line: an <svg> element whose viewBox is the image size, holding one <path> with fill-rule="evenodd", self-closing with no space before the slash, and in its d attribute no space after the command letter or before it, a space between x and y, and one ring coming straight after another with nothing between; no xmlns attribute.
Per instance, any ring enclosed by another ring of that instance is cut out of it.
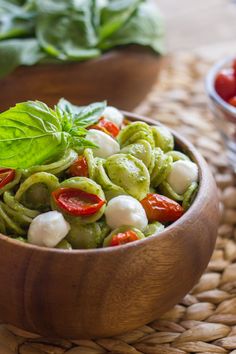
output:
<svg viewBox="0 0 236 354"><path fill-rule="evenodd" d="M151 2L142 3L135 14L113 36L100 46L109 49L124 44L149 46L158 53L164 52L164 22L157 6Z"/></svg>

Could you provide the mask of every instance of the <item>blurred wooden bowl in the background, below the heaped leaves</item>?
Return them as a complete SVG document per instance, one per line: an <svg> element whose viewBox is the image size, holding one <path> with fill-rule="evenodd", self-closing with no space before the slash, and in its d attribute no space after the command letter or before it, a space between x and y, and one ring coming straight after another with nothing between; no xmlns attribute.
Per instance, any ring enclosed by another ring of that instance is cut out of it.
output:
<svg viewBox="0 0 236 354"><path fill-rule="evenodd" d="M155 83L160 62L150 49L129 46L82 63L20 67L0 80L0 111L36 99L52 106L61 97L78 105L107 99L133 110Z"/></svg>

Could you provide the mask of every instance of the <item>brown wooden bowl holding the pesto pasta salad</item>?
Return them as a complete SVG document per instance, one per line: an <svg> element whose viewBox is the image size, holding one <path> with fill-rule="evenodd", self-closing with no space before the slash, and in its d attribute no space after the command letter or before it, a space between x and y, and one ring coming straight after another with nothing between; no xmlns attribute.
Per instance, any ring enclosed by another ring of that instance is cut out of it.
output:
<svg viewBox="0 0 236 354"><path fill-rule="evenodd" d="M200 188L190 209L159 235L71 252L0 235L2 322L49 337L112 336L153 321L188 293L215 245L218 200L205 160L175 138L198 164Z"/></svg>

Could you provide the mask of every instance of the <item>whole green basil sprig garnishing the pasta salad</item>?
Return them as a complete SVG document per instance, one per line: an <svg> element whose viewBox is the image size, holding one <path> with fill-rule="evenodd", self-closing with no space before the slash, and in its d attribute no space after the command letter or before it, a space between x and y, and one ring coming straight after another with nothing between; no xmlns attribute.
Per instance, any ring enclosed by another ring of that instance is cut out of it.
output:
<svg viewBox="0 0 236 354"><path fill-rule="evenodd" d="M42 102L28 101L0 114L1 167L29 168L54 161L69 147L79 151L95 146L86 139L85 128L98 121L106 103L75 110L62 102L53 110Z"/></svg>

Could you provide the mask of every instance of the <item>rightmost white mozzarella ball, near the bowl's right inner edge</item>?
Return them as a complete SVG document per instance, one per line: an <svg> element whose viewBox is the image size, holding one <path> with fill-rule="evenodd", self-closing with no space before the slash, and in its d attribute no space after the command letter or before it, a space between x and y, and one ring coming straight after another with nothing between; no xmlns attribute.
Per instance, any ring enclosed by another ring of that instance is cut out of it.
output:
<svg viewBox="0 0 236 354"><path fill-rule="evenodd" d="M178 160L173 163L167 182L175 193L183 194L198 180L198 167L191 161Z"/></svg>

